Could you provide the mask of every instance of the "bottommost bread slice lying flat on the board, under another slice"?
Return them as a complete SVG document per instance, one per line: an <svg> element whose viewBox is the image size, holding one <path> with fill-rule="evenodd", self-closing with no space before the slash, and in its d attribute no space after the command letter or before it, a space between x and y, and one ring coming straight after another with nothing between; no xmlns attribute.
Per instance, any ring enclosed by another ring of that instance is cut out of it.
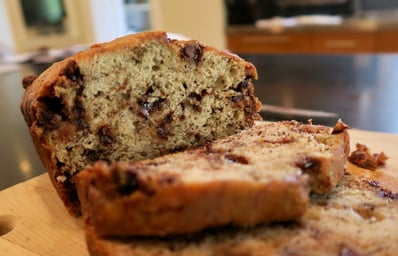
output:
<svg viewBox="0 0 398 256"><path fill-rule="evenodd" d="M124 239L100 237L87 226L87 244L97 256L395 255L398 196L381 194L371 181L346 173L331 193L311 194L307 212L295 222Z"/></svg>

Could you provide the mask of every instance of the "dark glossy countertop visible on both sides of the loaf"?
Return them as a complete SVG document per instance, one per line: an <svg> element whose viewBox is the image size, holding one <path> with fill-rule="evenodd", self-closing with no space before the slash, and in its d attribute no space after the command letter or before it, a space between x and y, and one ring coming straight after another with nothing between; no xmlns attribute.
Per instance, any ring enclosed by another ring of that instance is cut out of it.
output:
<svg viewBox="0 0 398 256"><path fill-rule="evenodd" d="M354 128L398 133L398 55L242 57L258 69L255 93L263 103L333 112ZM0 73L0 190L45 172L19 109L22 77L42 69L23 64Z"/></svg>

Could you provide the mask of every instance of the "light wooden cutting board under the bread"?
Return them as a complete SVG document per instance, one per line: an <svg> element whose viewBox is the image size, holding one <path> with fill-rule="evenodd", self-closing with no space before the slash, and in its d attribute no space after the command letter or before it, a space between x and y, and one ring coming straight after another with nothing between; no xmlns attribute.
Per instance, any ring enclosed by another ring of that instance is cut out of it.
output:
<svg viewBox="0 0 398 256"><path fill-rule="evenodd" d="M372 177L398 193L398 135L350 130L372 152L384 151L387 165L375 172L347 164L348 171ZM394 182L395 181L395 182ZM88 255L81 218L68 215L46 174L0 192L0 255Z"/></svg>

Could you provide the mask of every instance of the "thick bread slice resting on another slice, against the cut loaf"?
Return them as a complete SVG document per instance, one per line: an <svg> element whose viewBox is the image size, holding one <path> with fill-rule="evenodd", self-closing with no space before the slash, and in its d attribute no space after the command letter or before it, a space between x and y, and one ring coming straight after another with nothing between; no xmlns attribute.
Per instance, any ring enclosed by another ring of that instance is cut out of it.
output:
<svg viewBox="0 0 398 256"><path fill-rule="evenodd" d="M136 163L97 162L76 183L84 218L99 236L253 226L300 218L309 186L325 192L340 180L348 147L345 129L257 122L199 149Z"/></svg>

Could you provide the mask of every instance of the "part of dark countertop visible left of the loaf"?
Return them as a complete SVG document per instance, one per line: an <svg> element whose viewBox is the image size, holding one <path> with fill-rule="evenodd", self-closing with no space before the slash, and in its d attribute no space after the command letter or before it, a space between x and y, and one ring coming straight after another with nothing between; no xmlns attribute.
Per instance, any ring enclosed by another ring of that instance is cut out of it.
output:
<svg viewBox="0 0 398 256"><path fill-rule="evenodd" d="M35 71L29 65L0 73L0 189L45 172L19 109L21 79L32 73Z"/></svg>

